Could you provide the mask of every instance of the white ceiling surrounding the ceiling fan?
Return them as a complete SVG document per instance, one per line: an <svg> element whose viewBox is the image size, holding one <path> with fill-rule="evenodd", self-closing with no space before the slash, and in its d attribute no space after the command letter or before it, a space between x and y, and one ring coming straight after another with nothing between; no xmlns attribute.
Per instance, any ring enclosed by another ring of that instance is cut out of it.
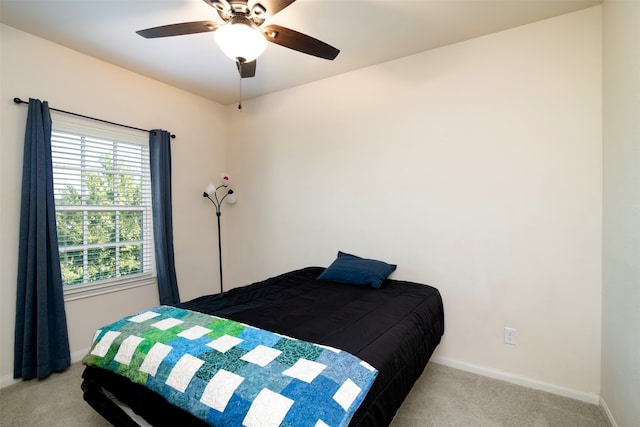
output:
<svg viewBox="0 0 640 427"><path fill-rule="evenodd" d="M254 1L249 0L249 4ZM269 18L341 50L333 61L275 44L243 79L252 98L600 4L601 0L297 0ZM211 33L144 39L137 30L213 20L202 0L0 0L0 21L214 101L239 76Z"/></svg>

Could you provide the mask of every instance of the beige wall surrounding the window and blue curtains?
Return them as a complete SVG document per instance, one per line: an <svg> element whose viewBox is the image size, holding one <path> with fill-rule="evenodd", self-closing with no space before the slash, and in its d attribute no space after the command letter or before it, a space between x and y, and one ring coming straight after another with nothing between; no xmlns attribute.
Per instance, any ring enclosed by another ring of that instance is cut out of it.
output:
<svg viewBox="0 0 640 427"><path fill-rule="evenodd" d="M183 299L217 285L215 211L202 198L226 161L226 109L11 27L0 27L0 384L11 382L22 146L27 109L14 97L144 129L163 128L172 142L176 268ZM93 331L158 304L154 286L68 302L71 351L77 360Z"/></svg>

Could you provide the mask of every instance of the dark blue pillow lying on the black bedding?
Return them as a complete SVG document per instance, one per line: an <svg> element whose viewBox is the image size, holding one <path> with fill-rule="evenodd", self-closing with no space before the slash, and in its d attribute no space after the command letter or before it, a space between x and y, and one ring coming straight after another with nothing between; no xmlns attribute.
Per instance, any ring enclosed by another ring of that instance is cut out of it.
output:
<svg viewBox="0 0 640 427"><path fill-rule="evenodd" d="M395 269L395 264L360 258L339 251L338 258L318 276L318 279L352 285L369 285L378 289L382 286L384 279Z"/></svg>

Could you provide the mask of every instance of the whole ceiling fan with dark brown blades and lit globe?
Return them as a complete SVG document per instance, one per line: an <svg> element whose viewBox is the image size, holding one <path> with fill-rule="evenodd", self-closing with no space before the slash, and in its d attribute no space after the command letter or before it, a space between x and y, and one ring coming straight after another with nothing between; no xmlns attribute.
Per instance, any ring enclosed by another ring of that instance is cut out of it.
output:
<svg viewBox="0 0 640 427"><path fill-rule="evenodd" d="M340 50L306 34L280 25L265 25L264 21L291 5L295 0L258 0L249 6L248 0L202 0L212 6L223 24L214 21L183 22L136 31L145 38L180 36L215 31L214 37L222 51L236 62L241 78L254 77L256 59L267 42L298 52L333 60Z"/></svg>

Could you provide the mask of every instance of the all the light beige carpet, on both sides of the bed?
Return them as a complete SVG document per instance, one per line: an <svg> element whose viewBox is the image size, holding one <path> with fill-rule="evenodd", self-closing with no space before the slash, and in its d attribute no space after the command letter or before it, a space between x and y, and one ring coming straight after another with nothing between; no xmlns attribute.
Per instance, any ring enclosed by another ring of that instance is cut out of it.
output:
<svg viewBox="0 0 640 427"><path fill-rule="evenodd" d="M83 399L83 366L0 389L2 427L105 427ZM595 405L429 363L392 427L608 427Z"/></svg>

